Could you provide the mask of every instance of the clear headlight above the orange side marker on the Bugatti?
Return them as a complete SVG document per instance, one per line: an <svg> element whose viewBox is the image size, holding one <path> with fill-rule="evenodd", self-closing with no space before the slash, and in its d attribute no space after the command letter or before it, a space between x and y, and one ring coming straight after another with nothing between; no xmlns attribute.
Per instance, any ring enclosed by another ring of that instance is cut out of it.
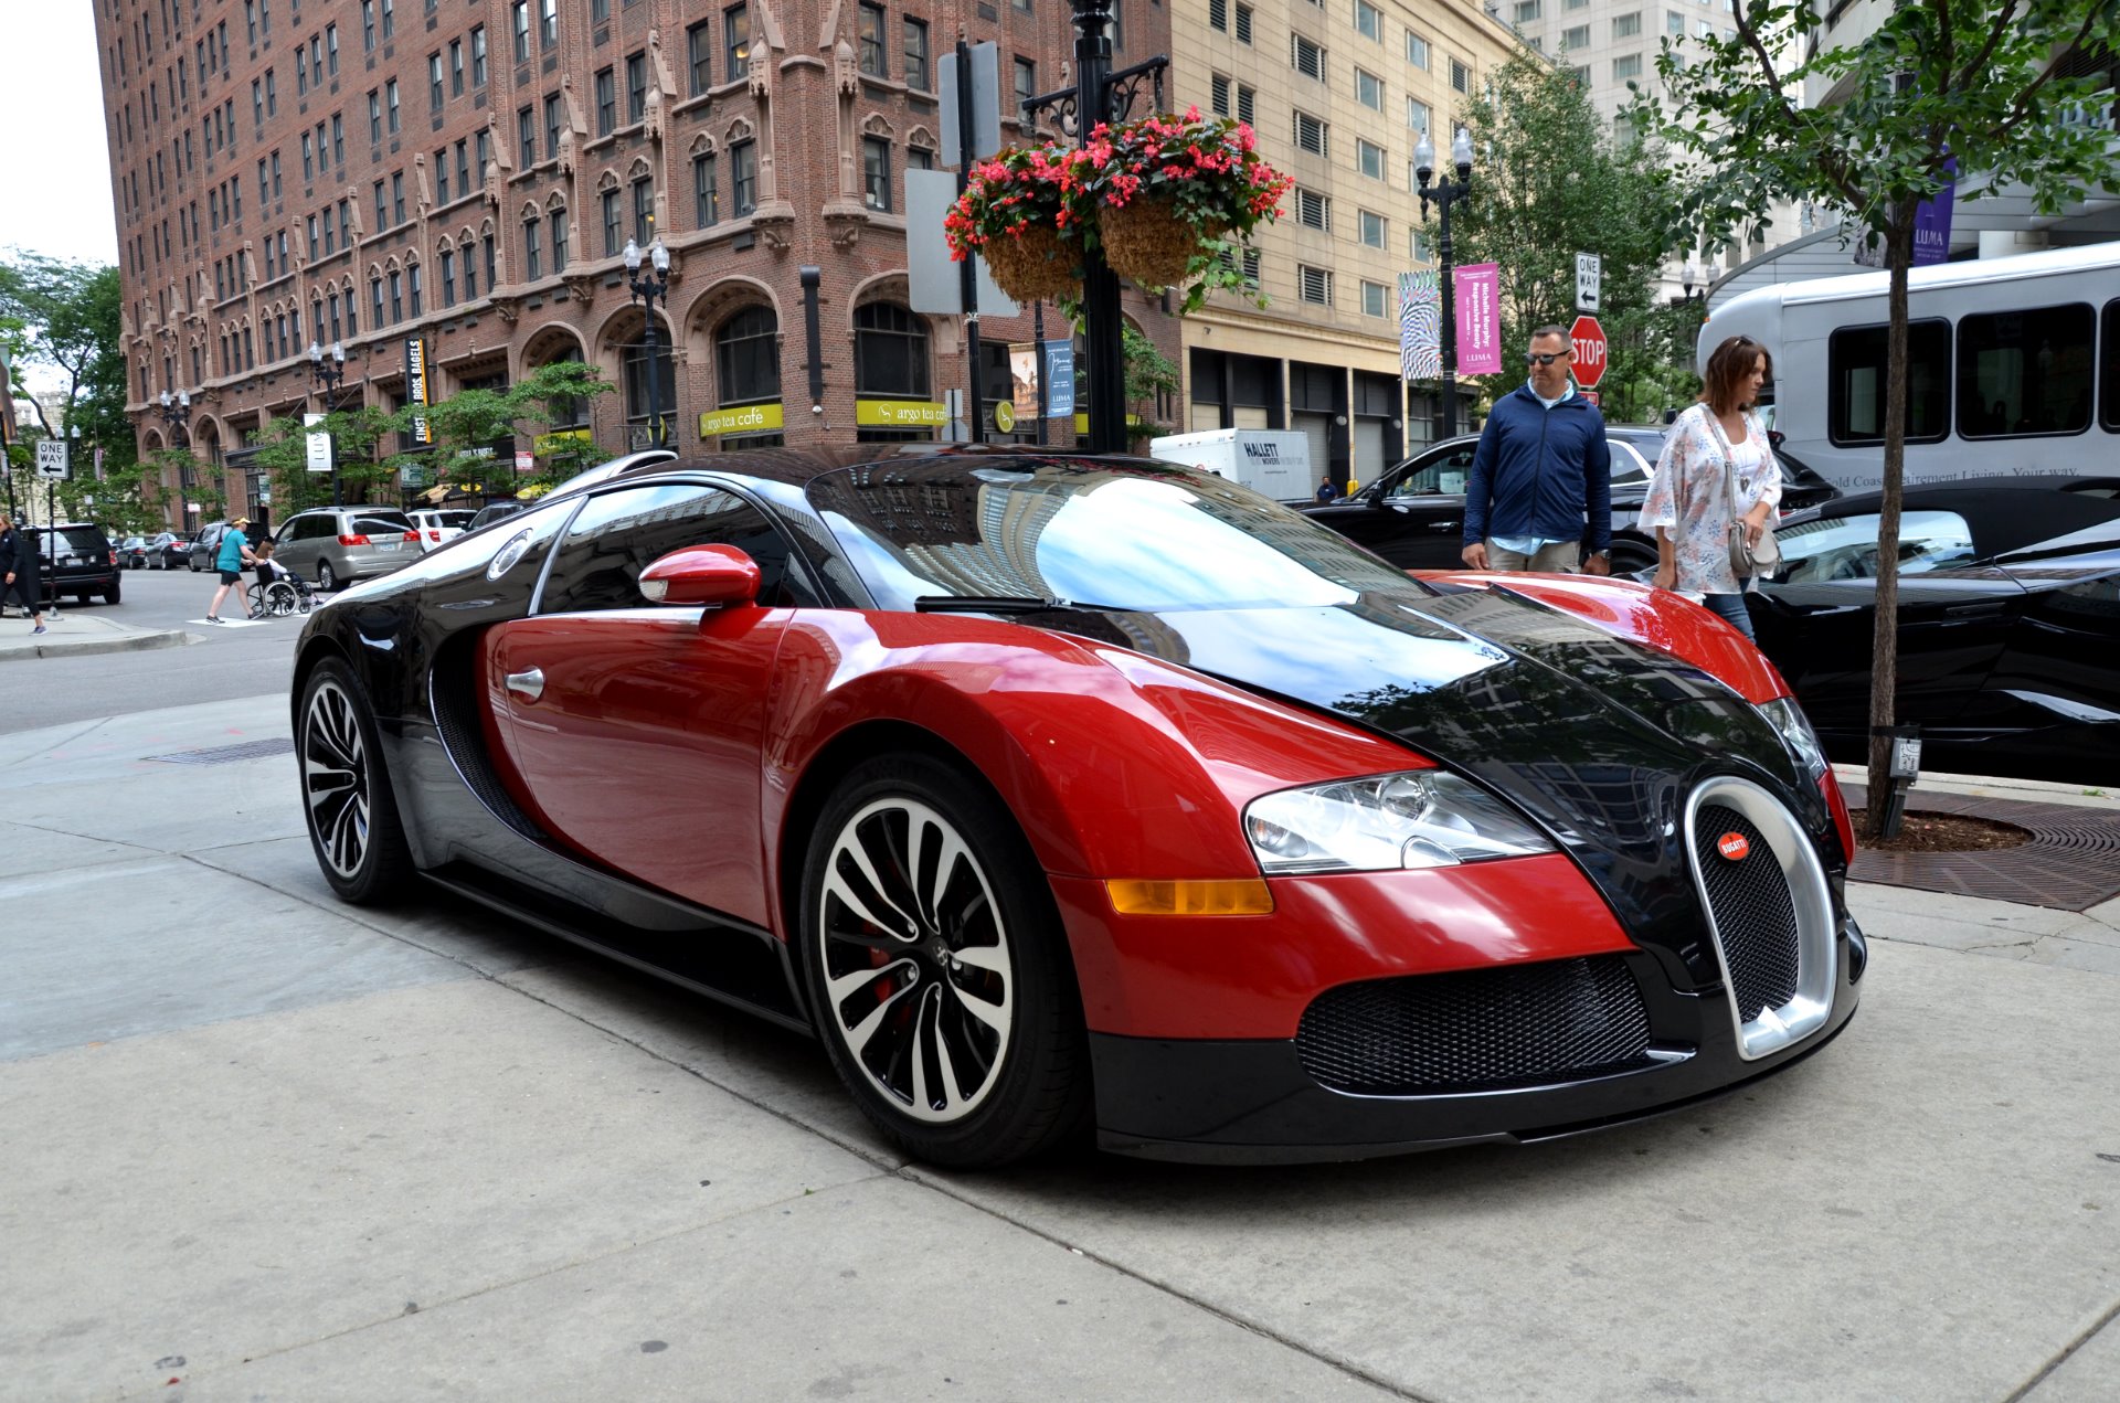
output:
<svg viewBox="0 0 2120 1403"><path fill-rule="evenodd" d="M1435 769L1253 799L1244 810L1244 837L1268 875L1454 867L1554 850L1499 799Z"/></svg>

